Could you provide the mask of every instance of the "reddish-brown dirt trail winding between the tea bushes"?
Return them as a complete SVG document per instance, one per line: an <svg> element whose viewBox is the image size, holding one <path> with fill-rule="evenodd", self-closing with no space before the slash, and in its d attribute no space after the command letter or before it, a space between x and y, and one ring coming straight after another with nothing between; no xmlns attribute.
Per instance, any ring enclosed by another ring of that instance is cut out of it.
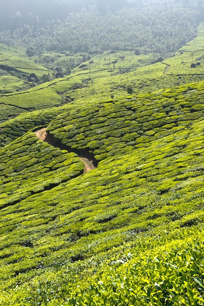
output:
<svg viewBox="0 0 204 306"><path fill-rule="evenodd" d="M61 146L58 146L54 139L53 136L50 135L47 131L46 128L43 128L41 130L35 131L34 132L36 134L36 136L38 138L40 138L42 141L46 141L47 143L49 143L50 145L54 146L54 147L58 147L60 149ZM65 150L67 150L67 148L64 148ZM70 152L69 150L67 150L68 152ZM74 152L74 151L73 151ZM79 155L79 154L78 154ZM87 154L84 154L84 156L79 156L79 158L81 159L81 161L84 163L84 171L83 173L86 173L90 170L96 169L96 161L94 160L94 158L91 156L85 156Z"/></svg>

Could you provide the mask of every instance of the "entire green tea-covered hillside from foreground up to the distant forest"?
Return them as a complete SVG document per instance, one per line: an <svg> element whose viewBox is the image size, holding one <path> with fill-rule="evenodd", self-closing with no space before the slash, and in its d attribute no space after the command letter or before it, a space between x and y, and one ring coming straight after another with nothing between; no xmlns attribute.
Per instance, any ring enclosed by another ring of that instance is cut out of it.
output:
<svg viewBox="0 0 204 306"><path fill-rule="evenodd" d="M136 53L0 95L0 305L204 305L204 25Z"/></svg>

